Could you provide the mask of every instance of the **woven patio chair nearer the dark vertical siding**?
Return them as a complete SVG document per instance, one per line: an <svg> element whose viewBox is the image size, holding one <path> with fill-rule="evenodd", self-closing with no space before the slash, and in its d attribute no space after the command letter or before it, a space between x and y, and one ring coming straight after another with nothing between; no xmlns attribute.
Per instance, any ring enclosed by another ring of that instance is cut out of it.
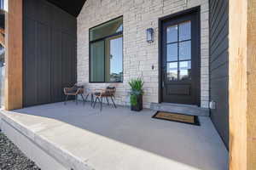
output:
<svg viewBox="0 0 256 170"><path fill-rule="evenodd" d="M66 102L69 96L75 96L75 101L77 105L79 95L81 95L82 99L84 100L84 103L86 102L86 99L88 97L87 95L86 99L84 99L84 86L78 86L77 84L75 84L72 88L64 88L64 94L66 95L64 105L67 104Z"/></svg>

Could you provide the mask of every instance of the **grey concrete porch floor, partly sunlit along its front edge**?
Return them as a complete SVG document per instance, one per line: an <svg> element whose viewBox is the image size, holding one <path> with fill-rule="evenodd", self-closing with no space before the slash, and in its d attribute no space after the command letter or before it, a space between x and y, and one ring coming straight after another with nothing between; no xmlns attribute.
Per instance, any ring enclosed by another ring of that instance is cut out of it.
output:
<svg viewBox="0 0 256 170"><path fill-rule="evenodd" d="M70 101L2 111L0 117L4 133L10 133L7 123L67 169L228 169L228 151L209 117L201 116L198 127L153 119L154 113L108 105L100 112Z"/></svg>

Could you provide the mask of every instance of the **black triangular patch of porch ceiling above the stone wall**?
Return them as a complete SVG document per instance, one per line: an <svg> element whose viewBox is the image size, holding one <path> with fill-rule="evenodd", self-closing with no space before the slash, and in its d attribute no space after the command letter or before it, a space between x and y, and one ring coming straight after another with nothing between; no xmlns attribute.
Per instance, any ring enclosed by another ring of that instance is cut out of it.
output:
<svg viewBox="0 0 256 170"><path fill-rule="evenodd" d="M67 13L72 14L77 17L83 8L83 5L86 0L75 0L75 1L67 1L67 0L47 0L49 3L55 4L55 6L62 8Z"/></svg>

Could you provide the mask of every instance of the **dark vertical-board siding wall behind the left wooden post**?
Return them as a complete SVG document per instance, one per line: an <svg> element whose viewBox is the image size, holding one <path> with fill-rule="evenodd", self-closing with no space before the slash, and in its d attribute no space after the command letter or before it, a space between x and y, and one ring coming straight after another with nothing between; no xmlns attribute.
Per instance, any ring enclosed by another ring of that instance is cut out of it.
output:
<svg viewBox="0 0 256 170"><path fill-rule="evenodd" d="M23 105L62 101L76 82L77 20L44 0L24 0Z"/></svg>

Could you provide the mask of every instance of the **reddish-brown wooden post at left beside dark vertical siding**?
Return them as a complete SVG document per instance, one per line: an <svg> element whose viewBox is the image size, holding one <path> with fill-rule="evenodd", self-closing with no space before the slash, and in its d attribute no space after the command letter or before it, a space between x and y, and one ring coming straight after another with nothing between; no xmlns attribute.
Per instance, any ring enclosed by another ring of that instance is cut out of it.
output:
<svg viewBox="0 0 256 170"><path fill-rule="evenodd" d="M5 15L5 109L22 108L22 0L7 0Z"/></svg>

